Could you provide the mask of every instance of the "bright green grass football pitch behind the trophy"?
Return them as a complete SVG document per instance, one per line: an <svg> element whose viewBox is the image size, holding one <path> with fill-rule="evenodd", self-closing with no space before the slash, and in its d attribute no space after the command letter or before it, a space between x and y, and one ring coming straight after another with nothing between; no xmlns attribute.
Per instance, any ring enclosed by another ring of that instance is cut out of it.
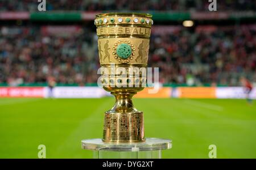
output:
<svg viewBox="0 0 256 170"><path fill-rule="evenodd" d="M0 99L0 158L92 158L81 140L101 138L102 99ZM163 158L256 158L256 103L221 99L134 99L144 112L146 137L172 139Z"/></svg>

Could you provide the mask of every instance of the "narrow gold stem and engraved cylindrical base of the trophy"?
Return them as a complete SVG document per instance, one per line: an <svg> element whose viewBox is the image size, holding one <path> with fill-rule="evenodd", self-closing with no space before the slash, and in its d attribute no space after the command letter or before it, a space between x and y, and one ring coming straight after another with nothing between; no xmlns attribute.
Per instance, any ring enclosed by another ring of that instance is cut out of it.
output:
<svg viewBox="0 0 256 170"><path fill-rule="evenodd" d="M105 112L104 142L143 142L143 112L134 108L131 97L136 92L113 92L115 105Z"/></svg>

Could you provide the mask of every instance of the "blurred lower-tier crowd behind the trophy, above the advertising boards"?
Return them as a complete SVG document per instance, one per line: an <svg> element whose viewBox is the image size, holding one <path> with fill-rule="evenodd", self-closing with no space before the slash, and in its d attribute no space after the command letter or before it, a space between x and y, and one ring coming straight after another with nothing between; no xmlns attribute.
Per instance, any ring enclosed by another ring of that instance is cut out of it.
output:
<svg viewBox="0 0 256 170"><path fill-rule="evenodd" d="M48 76L63 84L96 83L100 65L94 29L77 26L70 35L68 28L63 35L45 29L0 27L0 83L43 83ZM159 67L162 83L237 86L241 75L256 81L255 47L255 25L152 30L148 65Z"/></svg>

